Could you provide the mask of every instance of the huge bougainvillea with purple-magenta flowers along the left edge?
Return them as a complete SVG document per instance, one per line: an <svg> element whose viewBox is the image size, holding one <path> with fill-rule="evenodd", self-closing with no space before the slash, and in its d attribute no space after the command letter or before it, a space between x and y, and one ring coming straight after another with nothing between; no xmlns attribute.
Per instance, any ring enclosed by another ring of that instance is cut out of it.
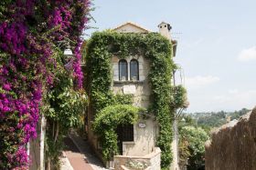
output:
<svg viewBox="0 0 256 170"><path fill-rule="evenodd" d="M26 145L37 136L42 96L58 82L59 70L66 68L75 88L81 87L80 35L90 5L89 0L0 1L0 169L29 165ZM67 42L74 52L69 61L61 53Z"/></svg>

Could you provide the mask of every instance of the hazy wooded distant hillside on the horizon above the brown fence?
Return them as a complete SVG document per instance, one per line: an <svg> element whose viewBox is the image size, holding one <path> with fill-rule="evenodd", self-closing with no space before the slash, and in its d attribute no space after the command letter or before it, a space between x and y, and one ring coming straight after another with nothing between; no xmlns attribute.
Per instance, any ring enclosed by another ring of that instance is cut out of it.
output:
<svg viewBox="0 0 256 170"><path fill-rule="evenodd" d="M190 116L197 122L199 126L209 126L209 127L218 127L224 125L227 122L238 119L241 115L245 115L250 110L247 108L242 108L239 111L235 112L210 112L210 113L193 113Z"/></svg>

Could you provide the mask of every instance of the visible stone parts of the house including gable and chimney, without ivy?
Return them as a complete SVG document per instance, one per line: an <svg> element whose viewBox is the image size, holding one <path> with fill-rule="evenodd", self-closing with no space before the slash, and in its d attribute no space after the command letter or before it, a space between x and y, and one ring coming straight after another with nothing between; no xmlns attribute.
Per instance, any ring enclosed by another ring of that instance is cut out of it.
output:
<svg viewBox="0 0 256 170"><path fill-rule="evenodd" d="M168 38L173 44L174 55L176 53L176 41L170 37L171 26L162 22L158 25L159 33ZM133 23L125 23L112 29L117 33L147 34L150 30ZM148 108L150 105L151 87L149 85L149 60L143 55L131 55L121 59L112 55L112 92L114 94L133 95L133 105ZM91 131L93 114L87 115L88 139L98 154L101 145L97 136ZM127 165L145 165L144 169L160 170L161 151L156 147L155 141L159 131L159 125L155 117L139 120L134 125L124 125L117 129L119 149L122 155L115 155L113 160L106 163L114 169L129 169ZM175 166L176 167L176 166ZM175 169L175 168L174 168Z"/></svg>

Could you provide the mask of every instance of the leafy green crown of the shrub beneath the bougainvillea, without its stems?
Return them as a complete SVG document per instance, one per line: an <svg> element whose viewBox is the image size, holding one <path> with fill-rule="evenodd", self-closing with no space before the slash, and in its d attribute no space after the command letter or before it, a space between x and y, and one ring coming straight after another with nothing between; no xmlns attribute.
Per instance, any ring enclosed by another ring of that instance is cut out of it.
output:
<svg viewBox="0 0 256 170"><path fill-rule="evenodd" d="M50 121L59 122L64 129L80 125L80 116L86 102L85 95L75 91L72 85L71 78L61 75L59 82L46 96L48 108L44 112L45 116Z"/></svg>

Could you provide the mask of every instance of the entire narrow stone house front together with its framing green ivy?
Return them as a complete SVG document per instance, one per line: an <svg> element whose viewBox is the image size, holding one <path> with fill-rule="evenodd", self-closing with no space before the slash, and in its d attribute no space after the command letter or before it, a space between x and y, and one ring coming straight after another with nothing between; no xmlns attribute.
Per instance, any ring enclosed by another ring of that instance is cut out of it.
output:
<svg viewBox="0 0 256 170"><path fill-rule="evenodd" d="M174 112L186 98L184 89L171 83L176 69L172 41L127 23L94 33L84 51L88 136L96 153L103 161L129 167L136 164L117 155L143 158L159 147L161 167L168 168Z"/></svg>

